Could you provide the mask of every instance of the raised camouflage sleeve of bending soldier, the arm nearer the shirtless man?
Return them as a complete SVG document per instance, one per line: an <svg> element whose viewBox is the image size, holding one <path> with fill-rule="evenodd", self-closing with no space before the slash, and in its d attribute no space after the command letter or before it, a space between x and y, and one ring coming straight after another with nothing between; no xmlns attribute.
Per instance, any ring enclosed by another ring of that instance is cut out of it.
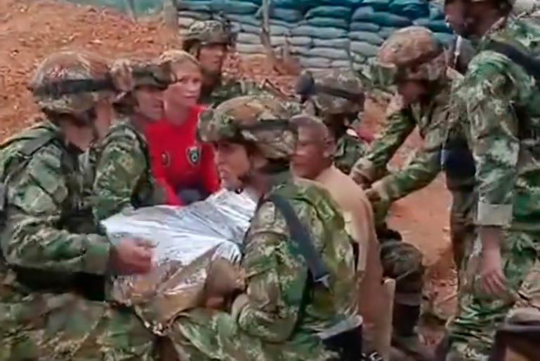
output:
<svg viewBox="0 0 540 361"><path fill-rule="evenodd" d="M386 127L371 145L369 153L355 163L351 173L363 175L374 181L383 174L386 165L416 127L409 109L399 109L389 114Z"/></svg>

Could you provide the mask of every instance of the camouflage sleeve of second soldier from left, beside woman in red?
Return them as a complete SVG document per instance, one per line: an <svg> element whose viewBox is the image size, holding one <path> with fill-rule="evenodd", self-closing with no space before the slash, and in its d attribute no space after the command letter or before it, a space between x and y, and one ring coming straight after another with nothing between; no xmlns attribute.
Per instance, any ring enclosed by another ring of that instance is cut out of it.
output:
<svg viewBox="0 0 540 361"><path fill-rule="evenodd" d="M93 186L96 222L133 207L133 192L148 166L136 135L123 132L105 139Z"/></svg>

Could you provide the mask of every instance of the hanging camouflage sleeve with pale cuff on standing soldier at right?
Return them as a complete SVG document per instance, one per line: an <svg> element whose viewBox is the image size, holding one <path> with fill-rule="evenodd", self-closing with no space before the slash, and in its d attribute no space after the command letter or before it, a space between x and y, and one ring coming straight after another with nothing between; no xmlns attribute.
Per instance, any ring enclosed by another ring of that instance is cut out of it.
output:
<svg viewBox="0 0 540 361"><path fill-rule="evenodd" d="M475 57L457 90L466 104L478 184L480 226L508 226L513 217L520 139L514 100L526 97L533 83L503 55Z"/></svg>

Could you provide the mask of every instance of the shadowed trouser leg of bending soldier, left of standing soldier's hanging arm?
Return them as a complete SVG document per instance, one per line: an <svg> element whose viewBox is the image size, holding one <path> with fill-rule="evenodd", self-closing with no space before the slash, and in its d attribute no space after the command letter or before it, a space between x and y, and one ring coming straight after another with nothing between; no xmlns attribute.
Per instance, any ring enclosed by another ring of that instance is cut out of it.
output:
<svg viewBox="0 0 540 361"><path fill-rule="evenodd" d="M452 190L452 208L450 210L450 240L456 269L461 271L463 257L473 244L475 233L475 193L469 189Z"/></svg>

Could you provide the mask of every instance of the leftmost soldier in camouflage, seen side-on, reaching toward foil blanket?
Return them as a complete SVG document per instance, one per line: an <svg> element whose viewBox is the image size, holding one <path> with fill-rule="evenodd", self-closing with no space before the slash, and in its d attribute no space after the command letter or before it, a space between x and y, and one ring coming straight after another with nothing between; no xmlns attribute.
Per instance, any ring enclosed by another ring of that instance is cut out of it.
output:
<svg viewBox="0 0 540 361"><path fill-rule="evenodd" d="M112 100L109 80L99 57L51 55L32 81L46 120L0 147L0 360L154 358L143 322L103 301L105 275L149 271L151 250L78 233L72 218L82 191L78 156L93 137L97 104Z"/></svg>

